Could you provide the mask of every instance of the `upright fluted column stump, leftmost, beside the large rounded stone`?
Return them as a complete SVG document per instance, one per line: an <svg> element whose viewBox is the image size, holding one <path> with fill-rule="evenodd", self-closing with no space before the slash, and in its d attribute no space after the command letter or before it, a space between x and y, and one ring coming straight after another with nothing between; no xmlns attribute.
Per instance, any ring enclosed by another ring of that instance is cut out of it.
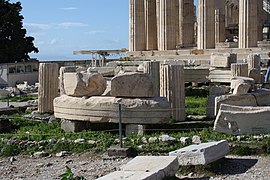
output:
<svg viewBox="0 0 270 180"><path fill-rule="evenodd" d="M53 100L58 96L58 64L40 63L39 88L38 88L38 112L53 112Z"/></svg>

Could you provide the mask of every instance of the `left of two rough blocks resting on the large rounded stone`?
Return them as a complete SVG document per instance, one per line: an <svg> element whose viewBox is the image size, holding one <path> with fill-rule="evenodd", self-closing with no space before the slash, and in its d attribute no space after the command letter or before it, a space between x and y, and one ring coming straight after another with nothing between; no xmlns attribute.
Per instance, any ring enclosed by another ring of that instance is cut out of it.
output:
<svg viewBox="0 0 270 180"><path fill-rule="evenodd" d="M99 73L64 73L64 89L69 96L99 96L106 89L106 80Z"/></svg>

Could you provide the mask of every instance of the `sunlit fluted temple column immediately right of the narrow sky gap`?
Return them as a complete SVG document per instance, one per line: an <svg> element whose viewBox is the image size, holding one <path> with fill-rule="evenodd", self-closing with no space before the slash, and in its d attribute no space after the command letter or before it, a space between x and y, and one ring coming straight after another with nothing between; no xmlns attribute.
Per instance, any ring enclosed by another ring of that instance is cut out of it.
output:
<svg viewBox="0 0 270 180"><path fill-rule="evenodd" d="M198 49L215 48L215 0L198 1Z"/></svg>

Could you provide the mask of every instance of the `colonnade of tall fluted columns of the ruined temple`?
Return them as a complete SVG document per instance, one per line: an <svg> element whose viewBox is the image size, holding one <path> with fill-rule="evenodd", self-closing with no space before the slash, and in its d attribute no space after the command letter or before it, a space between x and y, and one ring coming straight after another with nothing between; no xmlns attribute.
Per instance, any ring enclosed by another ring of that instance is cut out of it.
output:
<svg viewBox="0 0 270 180"><path fill-rule="evenodd" d="M130 0L129 50L215 49L226 43L258 47L258 41L269 39L266 29L263 36L263 28L269 27L269 4L269 0L198 0L196 15L193 0Z"/></svg>

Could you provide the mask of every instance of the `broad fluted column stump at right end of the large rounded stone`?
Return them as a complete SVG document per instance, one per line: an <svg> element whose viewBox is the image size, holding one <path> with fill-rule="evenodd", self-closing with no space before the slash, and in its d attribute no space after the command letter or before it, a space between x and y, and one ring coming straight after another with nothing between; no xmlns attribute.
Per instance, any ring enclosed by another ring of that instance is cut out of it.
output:
<svg viewBox="0 0 270 180"><path fill-rule="evenodd" d="M162 64L160 67L160 95L167 97L172 117L185 120L185 81L183 65Z"/></svg>

